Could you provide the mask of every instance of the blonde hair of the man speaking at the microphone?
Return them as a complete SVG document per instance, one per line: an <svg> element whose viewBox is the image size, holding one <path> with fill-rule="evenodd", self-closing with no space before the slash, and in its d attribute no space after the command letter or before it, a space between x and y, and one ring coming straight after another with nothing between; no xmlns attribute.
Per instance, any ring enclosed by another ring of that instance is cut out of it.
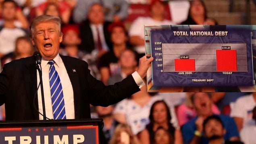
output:
<svg viewBox="0 0 256 144"><path fill-rule="evenodd" d="M41 16L35 17L35 19L33 19L32 22L31 22L31 25L29 27L29 29L30 29L30 33L29 33L30 38L33 39L33 37L35 36L35 26L42 23L42 22L54 22L54 23L56 23L58 25L58 32L60 33L60 35L62 35L61 20L58 16L41 15Z"/></svg>

